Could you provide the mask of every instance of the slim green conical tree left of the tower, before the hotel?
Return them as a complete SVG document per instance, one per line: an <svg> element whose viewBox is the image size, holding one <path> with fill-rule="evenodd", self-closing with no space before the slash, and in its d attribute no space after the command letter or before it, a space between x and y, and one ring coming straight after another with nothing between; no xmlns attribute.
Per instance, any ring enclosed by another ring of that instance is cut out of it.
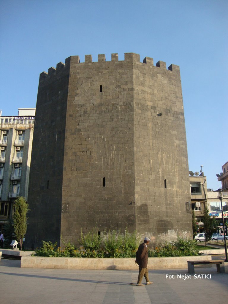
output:
<svg viewBox="0 0 228 304"><path fill-rule="evenodd" d="M20 244L20 250L22 250L23 238L27 230L27 212L29 211L29 205L25 198L20 196L15 200L15 214L13 217L14 221L14 233L17 241Z"/></svg>

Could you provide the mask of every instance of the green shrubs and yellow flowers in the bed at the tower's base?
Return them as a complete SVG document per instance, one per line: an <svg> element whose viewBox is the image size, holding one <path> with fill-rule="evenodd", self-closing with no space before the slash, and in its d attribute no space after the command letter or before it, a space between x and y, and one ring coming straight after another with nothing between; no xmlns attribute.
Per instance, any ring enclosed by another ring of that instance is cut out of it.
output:
<svg viewBox="0 0 228 304"><path fill-rule="evenodd" d="M37 248L36 256L43 257L135 257L139 245L136 231L129 233L127 229L124 235L112 230L105 236L98 236L96 229L86 234L81 232L83 247L75 247L70 242L63 243L58 247L57 242L42 241L43 247ZM181 257L199 255L197 244L194 240L184 240L180 237L175 241L165 242L156 247L155 250L148 250L149 257Z"/></svg>

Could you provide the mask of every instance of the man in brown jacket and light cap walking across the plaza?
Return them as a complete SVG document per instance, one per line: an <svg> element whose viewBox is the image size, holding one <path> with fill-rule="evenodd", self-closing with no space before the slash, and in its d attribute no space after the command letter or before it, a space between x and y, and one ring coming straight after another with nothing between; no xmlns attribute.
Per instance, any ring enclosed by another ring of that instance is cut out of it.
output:
<svg viewBox="0 0 228 304"><path fill-rule="evenodd" d="M139 248L136 252L136 263L139 265L139 276L138 276L138 282L137 286L144 286L141 282L144 278L146 279L146 285L149 285L153 282L150 282L149 276L148 276L148 269L147 269L147 263L148 263L148 248L147 245L149 244L150 239L148 237L145 237L144 242L139 245Z"/></svg>

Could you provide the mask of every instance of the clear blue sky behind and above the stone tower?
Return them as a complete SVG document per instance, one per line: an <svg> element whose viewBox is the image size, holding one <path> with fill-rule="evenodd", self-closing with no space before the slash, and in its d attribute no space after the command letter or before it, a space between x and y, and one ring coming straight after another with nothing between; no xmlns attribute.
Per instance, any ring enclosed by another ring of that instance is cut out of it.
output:
<svg viewBox="0 0 228 304"><path fill-rule="evenodd" d="M227 17L227 0L0 0L2 115L35 107L40 73L72 55L179 65L189 170L203 165L216 190L228 161Z"/></svg>

